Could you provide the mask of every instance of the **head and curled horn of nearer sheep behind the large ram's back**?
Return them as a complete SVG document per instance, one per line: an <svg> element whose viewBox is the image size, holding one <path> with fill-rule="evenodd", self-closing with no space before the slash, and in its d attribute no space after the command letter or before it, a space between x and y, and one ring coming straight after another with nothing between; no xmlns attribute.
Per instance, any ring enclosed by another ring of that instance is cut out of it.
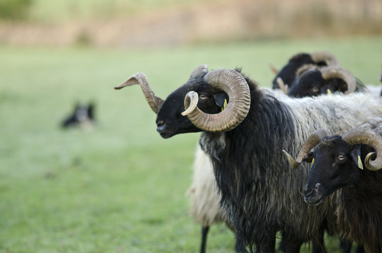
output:
<svg viewBox="0 0 382 253"><path fill-rule="evenodd" d="M291 97L318 96L337 91L349 94L366 90L361 81L357 81L348 70L341 67L318 68L307 64L296 71L296 76L288 93Z"/></svg>

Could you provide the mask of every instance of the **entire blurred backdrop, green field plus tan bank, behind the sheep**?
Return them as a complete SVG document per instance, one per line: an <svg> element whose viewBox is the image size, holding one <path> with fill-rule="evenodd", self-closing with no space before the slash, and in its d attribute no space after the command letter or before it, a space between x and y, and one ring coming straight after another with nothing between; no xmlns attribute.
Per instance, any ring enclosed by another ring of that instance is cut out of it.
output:
<svg viewBox="0 0 382 253"><path fill-rule="evenodd" d="M198 252L199 134L162 139L141 88L114 86L143 72L165 99L207 64L270 88L270 63L316 50L380 86L381 45L380 0L0 0L0 252ZM208 252L234 245L211 227Z"/></svg>

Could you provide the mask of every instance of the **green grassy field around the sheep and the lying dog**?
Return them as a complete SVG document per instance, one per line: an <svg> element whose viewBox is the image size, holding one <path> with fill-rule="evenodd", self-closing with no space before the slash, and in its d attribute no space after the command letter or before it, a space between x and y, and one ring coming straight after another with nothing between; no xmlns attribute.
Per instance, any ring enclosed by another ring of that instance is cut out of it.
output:
<svg viewBox="0 0 382 253"><path fill-rule="evenodd" d="M198 134L162 139L139 86L163 99L200 64L243 71L270 87L269 63L330 50L378 84L382 37L199 45L175 49L0 47L0 252L197 252L185 192ZM77 102L96 103L92 131L63 130ZM336 240L327 240L331 253ZM208 252L233 252L213 226ZM308 251L308 246L303 246Z"/></svg>

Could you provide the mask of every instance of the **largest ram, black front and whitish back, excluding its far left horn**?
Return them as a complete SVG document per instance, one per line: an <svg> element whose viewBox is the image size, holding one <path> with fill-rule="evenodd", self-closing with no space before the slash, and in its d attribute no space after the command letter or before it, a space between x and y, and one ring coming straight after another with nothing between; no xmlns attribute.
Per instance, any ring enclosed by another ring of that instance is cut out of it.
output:
<svg viewBox="0 0 382 253"><path fill-rule="evenodd" d="M312 130L348 130L380 113L380 101L365 94L278 100L235 70L208 72L202 65L163 102L156 124L163 138L202 131L221 206L237 235L251 251L275 252L281 231L289 253L320 241L324 223L330 235L336 232L335 197L318 208L306 205L299 192L310 165L293 172L282 149L294 154Z"/></svg>

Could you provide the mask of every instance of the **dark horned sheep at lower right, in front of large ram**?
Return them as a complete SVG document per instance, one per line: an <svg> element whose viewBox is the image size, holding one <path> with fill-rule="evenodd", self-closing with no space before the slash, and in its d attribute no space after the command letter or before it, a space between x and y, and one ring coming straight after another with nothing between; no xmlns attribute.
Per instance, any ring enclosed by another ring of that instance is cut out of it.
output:
<svg viewBox="0 0 382 253"><path fill-rule="evenodd" d="M324 129L313 132L297 160L285 153L293 167L302 161L313 162L304 187L305 202L317 206L339 190L340 232L362 242L372 253L380 252L382 245L381 136L382 118L375 118L331 136ZM313 147L314 152L309 152Z"/></svg>

